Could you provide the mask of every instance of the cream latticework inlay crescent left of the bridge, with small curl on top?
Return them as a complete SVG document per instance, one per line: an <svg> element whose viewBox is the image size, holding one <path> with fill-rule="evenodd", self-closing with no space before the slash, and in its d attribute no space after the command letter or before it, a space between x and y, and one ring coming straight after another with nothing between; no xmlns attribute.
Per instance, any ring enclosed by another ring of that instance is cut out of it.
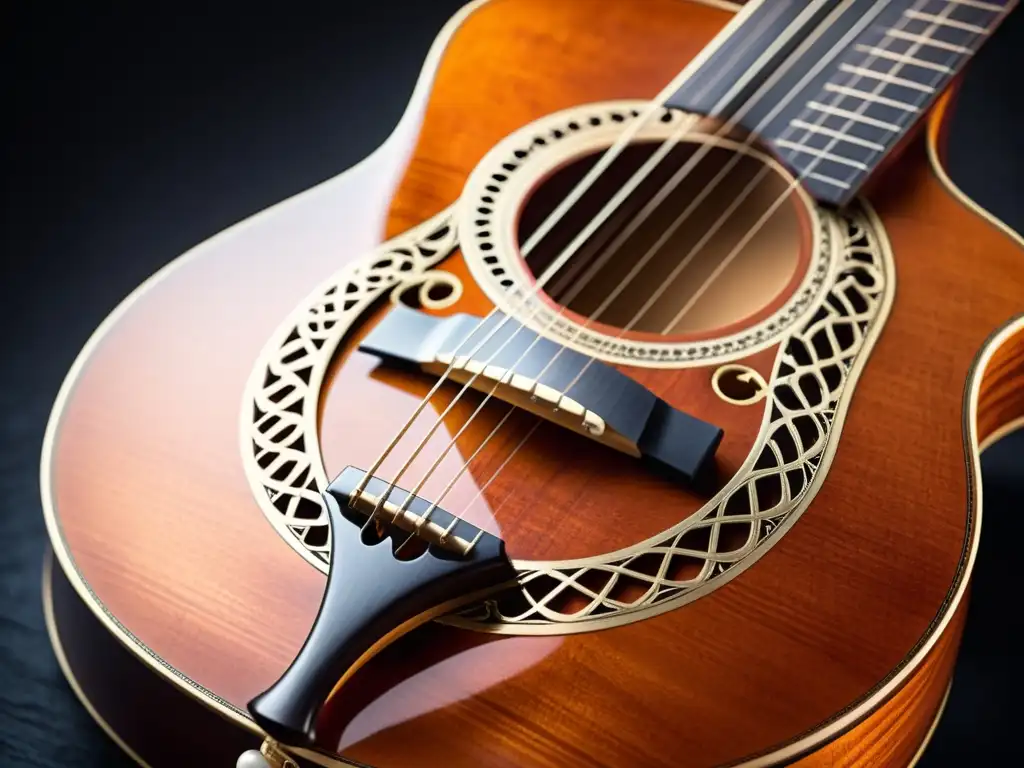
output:
<svg viewBox="0 0 1024 768"><path fill-rule="evenodd" d="M326 565L331 553L321 498L330 480L319 456L316 410L334 350L387 291L394 301L415 294L431 306L457 299L458 280L430 271L457 242L450 209L347 264L292 312L253 371L242 413L246 474L263 512L313 562ZM438 286L447 292L432 297Z"/></svg>

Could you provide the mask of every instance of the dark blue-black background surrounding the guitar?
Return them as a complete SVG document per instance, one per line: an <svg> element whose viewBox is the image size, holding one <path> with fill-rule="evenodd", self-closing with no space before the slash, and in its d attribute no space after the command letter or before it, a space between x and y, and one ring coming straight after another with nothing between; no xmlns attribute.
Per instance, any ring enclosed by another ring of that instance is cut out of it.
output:
<svg viewBox="0 0 1024 768"><path fill-rule="evenodd" d="M65 684L40 609L38 458L75 354L159 266L373 150L461 4L5 4L0 768L127 764ZM953 178L1018 230L1022 49L1018 10L968 75L949 158ZM1024 433L983 463L970 621L926 768L989 765L1018 739Z"/></svg>

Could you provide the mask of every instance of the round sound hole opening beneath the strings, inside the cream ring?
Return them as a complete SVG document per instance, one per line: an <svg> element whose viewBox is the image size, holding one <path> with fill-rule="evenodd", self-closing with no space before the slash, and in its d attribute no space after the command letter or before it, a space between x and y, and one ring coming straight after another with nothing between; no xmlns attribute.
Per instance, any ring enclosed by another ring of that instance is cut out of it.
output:
<svg viewBox="0 0 1024 768"><path fill-rule="evenodd" d="M528 254L532 275L542 275L598 218L655 146L636 144L615 160ZM706 154L696 159L696 152ZM534 190L520 215L520 246L601 154L581 157ZM656 203L691 158L692 168ZM796 288L809 257L807 219L790 179L758 157L680 143L544 290L568 316L614 336L685 339L734 331L769 314Z"/></svg>

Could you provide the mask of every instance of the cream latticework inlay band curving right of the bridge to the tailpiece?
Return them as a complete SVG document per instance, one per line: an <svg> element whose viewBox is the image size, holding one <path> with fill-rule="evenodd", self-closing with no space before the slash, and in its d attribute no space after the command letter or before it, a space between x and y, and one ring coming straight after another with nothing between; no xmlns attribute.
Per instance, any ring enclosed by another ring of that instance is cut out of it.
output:
<svg viewBox="0 0 1024 768"><path fill-rule="evenodd" d="M841 221L836 280L782 345L759 447L732 482L697 514L629 550L543 567L522 563L520 591L475 606L462 618L506 627L598 626L602 618L623 621L631 612L676 606L753 564L796 521L835 445L830 438L852 394L851 376L869 351L891 297L887 252L867 216L848 213Z"/></svg>

